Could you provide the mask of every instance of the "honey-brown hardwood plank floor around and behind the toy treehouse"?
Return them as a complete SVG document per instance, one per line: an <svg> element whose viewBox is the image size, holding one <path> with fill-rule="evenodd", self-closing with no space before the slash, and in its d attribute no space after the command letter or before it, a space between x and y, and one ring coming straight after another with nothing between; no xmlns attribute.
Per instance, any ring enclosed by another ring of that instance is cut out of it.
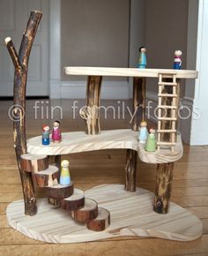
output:
<svg viewBox="0 0 208 256"><path fill-rule="evenodd" d="M118 106L116 102L102 102L107 105ZM125 105L130 102L125 102ZM79 105L85 102L79 101ZM8 117L8 109L12 102L0 102L0 255L208 255L208 146L184 146L182 159L175 164L172 201L186 207L197 215L204 225L203 236L193 242L173 242L158 238L123 237L102 242L83 243L74 245L45 244L24 237L16 230L12 230L6 221L5 209L13 200L22 199L19 171L13 150L12 122ZM72 101L39 102L46 118L47 107L61 106L63 132L82 131L83 120L72 117ZM120 104L121 105L121 104ZM52 126L53 119L41 120L41 108L34 113L34 101L26 104L27 137L41 134L41 124ZM55 111L54 119L59 118L59 111ZM108 110L108 119L101 122L101 129L128 128L130 116L126 111L126 118L112 120ZM49 111L50 116L50 111ZM68 157L68 156L65 156ZM125 150L103 150L71 154L71 179L77 188L89 189L99 184L123 184ZM155 184L155 165L138 162L137 185L153 192ZM39 189L39 197L44 194ZM56 222L56 220L55 220Z"/></svg>

